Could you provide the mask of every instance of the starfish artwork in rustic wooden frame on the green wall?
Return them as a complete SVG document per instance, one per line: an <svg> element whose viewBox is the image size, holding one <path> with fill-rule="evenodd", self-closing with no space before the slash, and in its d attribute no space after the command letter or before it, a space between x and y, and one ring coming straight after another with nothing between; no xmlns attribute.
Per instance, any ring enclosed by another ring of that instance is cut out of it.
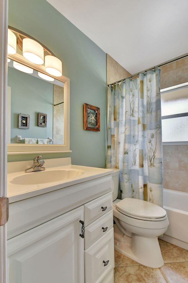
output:
<svg viewBox="0 0 188 283"><path fill-rule="evenodd" d="M100 131L100 108L84 103L84 130Z"/></svg>

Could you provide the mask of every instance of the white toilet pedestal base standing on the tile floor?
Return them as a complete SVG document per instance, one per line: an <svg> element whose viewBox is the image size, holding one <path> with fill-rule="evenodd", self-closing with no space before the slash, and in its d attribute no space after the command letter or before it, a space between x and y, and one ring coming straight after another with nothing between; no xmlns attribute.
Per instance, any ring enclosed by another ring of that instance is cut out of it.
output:
<svg viewBox="0 0 188 283"><path fill-rule="evenodd" d="M164 264L158 237L144 237L132 233L132 237L114 233L114 248L126 257L147 267L159 268Z"/></svg>

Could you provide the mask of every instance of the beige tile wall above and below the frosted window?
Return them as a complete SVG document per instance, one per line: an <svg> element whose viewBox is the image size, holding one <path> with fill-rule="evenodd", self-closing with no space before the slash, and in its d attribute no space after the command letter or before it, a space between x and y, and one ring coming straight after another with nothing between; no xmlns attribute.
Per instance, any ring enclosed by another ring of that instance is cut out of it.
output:
<svg viewBox="0 0 188 283"><path fill-rule="evenodd" d="M161 69L161 89L188 81L188 57ZM188 145L163 145L163 187L188 193Z"/></svg>

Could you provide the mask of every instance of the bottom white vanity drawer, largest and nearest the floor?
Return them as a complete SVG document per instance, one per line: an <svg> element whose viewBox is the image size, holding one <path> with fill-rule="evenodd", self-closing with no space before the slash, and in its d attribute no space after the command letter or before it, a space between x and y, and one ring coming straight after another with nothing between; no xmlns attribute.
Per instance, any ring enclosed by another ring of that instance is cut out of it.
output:
<svg viewBox="0 0 188 283"><path fill-rule="evenodd" d="M114 268L113 228L98 239L85 254L85 283L99 283Z"/></svg>

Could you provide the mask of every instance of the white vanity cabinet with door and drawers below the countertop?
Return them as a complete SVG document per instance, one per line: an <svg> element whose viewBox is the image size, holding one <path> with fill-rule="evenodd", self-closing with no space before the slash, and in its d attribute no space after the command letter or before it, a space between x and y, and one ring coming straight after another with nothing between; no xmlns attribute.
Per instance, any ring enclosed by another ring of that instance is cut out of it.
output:
<svg viewBox="0 0 188 283"><path fill-rule="evenodd" d="M111 174L10 203L7 235L9 283L113 283Z"/></svg>

